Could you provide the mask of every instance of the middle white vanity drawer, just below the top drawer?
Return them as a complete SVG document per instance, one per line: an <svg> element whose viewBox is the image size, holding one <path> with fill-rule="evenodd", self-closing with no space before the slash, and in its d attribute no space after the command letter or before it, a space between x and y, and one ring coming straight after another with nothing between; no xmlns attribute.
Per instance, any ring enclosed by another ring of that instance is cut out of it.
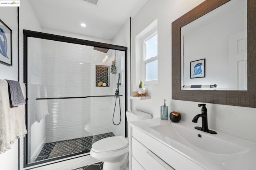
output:
<svg viewBox="0 0 256 170"><path fill-rule="evenodd" d="M173 170L166 162L161 160L156 154L134 138L132 138L132 156L134 156L146 170Z"/></svg>

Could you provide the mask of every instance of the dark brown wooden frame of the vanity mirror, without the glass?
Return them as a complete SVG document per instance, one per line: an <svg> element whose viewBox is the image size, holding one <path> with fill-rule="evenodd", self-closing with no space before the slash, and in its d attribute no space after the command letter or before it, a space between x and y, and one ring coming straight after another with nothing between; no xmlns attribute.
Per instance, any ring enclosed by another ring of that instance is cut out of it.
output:
<svg viewBox="0 0 256 170"><path fill-rule="evenodd" d="M230 0L206 0L172 22L172 99L256 108L256 1L247 0L247 90L182 90L181 28ZM232 0L231 0L232 1Z"/></svg>

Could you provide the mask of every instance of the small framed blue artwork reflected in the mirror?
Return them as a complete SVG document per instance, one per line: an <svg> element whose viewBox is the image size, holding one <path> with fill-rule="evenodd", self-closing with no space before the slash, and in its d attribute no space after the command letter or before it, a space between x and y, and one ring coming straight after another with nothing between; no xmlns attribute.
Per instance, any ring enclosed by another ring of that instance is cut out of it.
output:
<svg viewBox="0 0 256 170"><path fill-rule="evenodd" d="M205 58L190 62L190 79L205 77Z"/></svg>

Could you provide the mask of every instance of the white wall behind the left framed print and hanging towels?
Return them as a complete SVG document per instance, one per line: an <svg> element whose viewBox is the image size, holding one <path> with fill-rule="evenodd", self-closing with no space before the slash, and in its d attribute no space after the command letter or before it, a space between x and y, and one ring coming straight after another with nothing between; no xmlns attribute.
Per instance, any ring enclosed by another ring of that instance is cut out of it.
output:
<svg viewBox="0 0 256 170"><path fill-rule="evenodd" d="M18 81L18 9L17 7L0 7L1 20L12 30L12 67L0 63L0 79ZM13 19L11 19L13 18ZM20 79L22 81L22 79ZM0 169L16 170L18 168L18 140L11 149L0 154Z"/></svg>

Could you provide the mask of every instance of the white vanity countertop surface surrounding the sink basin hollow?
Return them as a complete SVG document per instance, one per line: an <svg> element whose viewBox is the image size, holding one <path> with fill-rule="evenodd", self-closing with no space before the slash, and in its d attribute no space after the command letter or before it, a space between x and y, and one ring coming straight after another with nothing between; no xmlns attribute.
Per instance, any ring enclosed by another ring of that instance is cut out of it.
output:
<svg viewBox="0 0 256 170"><path fill-rule="evenodd" d="M166 146L172 148L174 151L182 154L186 158L192 160L196 164L202 166L207 170L252 170L256 169L256 143L244 140L242 138L237 138L235 136L231 136L229 134L225 134L222 132L218 132L218 134L210 134L216 135L216 138L219 136L224 136L224 138L228 138L228 140L235 141L234 144L237 144L239 147L244 147L246 150L239 153L234 154L220 154L220 153L213 153L208 152L204 149L201 149L190 142L184 140L176 131L175 128L165 129L163 128L163 133L160 133L153 128L158 125L166 125L166 124L178 124L181 126L186 127L193 127L195 125L185 123L185 122L178 122L174 123L170 120L161 120L160 118L154 119L145 119L139 121L133 121L130 123L132 127L137 127L138 129L142 130L146 134L152 136L156 140L162 142ZM212 130L212 129L211 129ZM213 129L214 130L214 129ZM164 132L165 131L165 132ZM170 132L168 136L164 135ZM198 130L200 134L207 134L206 132L202 132ZM215 136L214 136L215 137ZM223 138L223 137L222 137ZM181 141L181 142L179 142ZM211 147L209 145L209 147Z"/></svg>

